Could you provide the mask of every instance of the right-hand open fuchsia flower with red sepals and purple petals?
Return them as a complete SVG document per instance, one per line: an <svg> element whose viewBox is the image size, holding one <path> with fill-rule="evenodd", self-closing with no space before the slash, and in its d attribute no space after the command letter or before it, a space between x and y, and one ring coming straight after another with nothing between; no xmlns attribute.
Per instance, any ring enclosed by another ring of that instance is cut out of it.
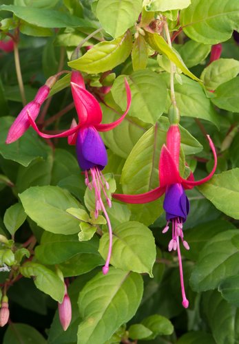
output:
<svg viewBox="0 0 239 344"><path fill-rule="evenodd" d="M196 185L207 182L216 171L217 156L211 138L207 136L209 145L214 153L214 168L206 178L194 181L194 175L191 173L187 180L183 179L179 174L179 153L180 153L180 131L178 125L171 125L167 131L167 143L163 145L159 160L159 182L160 186L147 193L138 195L121 195L114 193L112 196L116 200L120 200L132 204L141 204L157 200L165 193L163 208L166 213L167 224L163 229L163 233L169 230L169 222L172 222L172 239L169 241L168 249L178 251L178 262L180 270L180 284L183 297L183 307L187 308L189 301L185 295L185 287L183 281L183 265L180 253L180 239L183 246L189 250L187 241L183 239L183 222L186 221L189 213L189 200L185 194L185 189L192 189Z"/></svg>

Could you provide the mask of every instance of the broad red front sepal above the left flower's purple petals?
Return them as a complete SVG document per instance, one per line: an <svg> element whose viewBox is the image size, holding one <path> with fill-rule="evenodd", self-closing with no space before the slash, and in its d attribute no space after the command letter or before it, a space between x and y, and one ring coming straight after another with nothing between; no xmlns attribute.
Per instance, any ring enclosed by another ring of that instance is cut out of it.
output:
<svg viewBox="0 0 239 344"><path fill-rule="evenodd" d="M96 125L100 123L102 120L102 111L96 98L76 83L71 82L70 84L72 87L74 106L76 107L81 125Z"/></svg>

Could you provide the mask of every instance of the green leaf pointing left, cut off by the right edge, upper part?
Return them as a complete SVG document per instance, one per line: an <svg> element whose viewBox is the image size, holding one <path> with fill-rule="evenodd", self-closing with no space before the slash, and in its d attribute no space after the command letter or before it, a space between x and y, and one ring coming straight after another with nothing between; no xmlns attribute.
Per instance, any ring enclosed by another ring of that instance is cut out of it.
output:
<svg viewBox="0 0 239 344"><path fill-rule="evenodd" d="M238 87L239 78L233 78L218 86L214 92L215 98L211 98L212 103L220 109L239 112Z"/></svg>

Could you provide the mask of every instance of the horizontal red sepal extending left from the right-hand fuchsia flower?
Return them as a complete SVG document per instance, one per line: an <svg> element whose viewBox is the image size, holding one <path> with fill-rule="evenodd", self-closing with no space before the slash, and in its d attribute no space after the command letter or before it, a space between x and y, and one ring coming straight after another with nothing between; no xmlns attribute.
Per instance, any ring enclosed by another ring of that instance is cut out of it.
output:
<svg viewBox="0 0 239 344"><path fill-rule="evenodd" d="M143 204L158 200L160 196L165 193L165 188L158 186L156 189L148 191L147 193L139 193L138 195L123 195L121 193L113 193L112 197L116 200L131 203L131 204Z"/></svg>

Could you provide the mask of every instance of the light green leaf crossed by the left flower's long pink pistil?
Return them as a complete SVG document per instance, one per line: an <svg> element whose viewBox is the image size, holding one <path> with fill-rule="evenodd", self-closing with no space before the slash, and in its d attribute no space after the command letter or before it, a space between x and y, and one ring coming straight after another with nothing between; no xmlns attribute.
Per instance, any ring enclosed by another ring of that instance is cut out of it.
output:
<svg viewBox="0 0 239 344"><path fill-rule="evenodd" d="M109 234L100 240L98 251L107 258ZM121 270L147 272L151 277L156 259L156 247L152 231L140 222L125 222L113 228L112 257L110 263Z"/></svg>

